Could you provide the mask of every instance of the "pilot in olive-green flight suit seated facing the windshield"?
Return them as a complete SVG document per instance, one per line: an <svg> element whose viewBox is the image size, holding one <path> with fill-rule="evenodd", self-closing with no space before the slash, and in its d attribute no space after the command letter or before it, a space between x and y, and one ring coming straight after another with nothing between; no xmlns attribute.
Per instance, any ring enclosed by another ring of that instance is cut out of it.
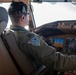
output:
<svg viewBox="0 0 76 75"><path fill-rule="evenodd" d="M13 1L8 9L12 21L10 29L14 31L21 51L35 61L36 66L43 64L51 70L69 71L76 69L76 55L64 55L47 45L42 38L25 29L29 22L28 7L23 2Z"/></svg>

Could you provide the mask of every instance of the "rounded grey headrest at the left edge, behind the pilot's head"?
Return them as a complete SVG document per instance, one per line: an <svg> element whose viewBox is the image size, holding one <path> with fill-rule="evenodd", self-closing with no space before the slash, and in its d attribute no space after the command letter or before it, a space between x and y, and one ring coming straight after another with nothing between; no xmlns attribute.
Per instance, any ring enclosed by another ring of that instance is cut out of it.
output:
<svg viewBox="0 0 76 75"><path fill-rule="evenodd" d="M4 31L8 23L8 12L4 7L0 7L0 33Z"/></svg>

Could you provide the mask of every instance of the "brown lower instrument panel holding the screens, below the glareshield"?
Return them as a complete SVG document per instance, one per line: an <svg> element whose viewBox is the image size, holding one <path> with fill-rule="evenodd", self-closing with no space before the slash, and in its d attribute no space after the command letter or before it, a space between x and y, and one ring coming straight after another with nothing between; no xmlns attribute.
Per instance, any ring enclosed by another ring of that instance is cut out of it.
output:
<svg viewBox="0 0 76 75"><path fill-rule="evenodd" d="M76 53L76 35L58 35L45 39L45 42L60 52Z"/></svg>

